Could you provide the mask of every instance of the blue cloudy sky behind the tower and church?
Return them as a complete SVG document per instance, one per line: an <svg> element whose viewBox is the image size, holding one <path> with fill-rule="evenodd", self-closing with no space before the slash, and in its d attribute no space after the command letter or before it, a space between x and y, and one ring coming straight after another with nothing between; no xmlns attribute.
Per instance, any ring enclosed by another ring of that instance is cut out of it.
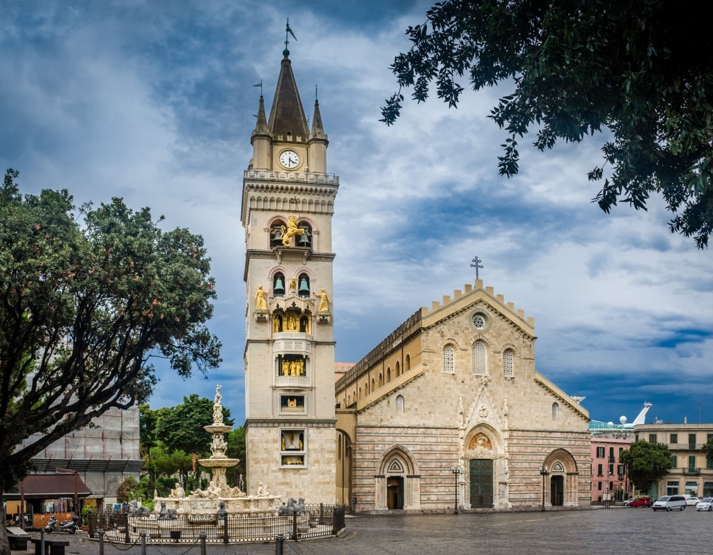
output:
<svg viewBox="0 0 713 555"><path fill-rule="evenodd" d="M586 172L603 136L498 176L505 139L487 115L507 87L434 95L379 122L389 64L429 1L0 0L0 164L24 192L78 203L122 196L165 226L205 237L217 280L212 331L224 363L209 379L162 372L154 409L192 392L244 419L242 172L263 82L267 109L284 24L302 103L315 86L340 178L334 215L337 360L356 362L402 321L480 277L535 318L538 371L596 420L713 422L713 261L650 210L603 214ZM465 82L463 85L467 86Z"/></svg>

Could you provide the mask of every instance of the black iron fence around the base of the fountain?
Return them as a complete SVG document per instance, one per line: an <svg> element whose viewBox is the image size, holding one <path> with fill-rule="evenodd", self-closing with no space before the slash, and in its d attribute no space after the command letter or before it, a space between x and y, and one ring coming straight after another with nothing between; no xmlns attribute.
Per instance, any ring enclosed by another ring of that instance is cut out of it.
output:
<svg viewBox="0 0 713 555"><path fill-rule="evenodd" d="M89 535L103 530L104 541L138 544L195 544L205 534L207 543L234 544L251 541L273 541L282 535L299 540L330 536L344 528L344 505L310 504L304 512L277 514L184 515L171 519L158 516L136 516L113 512L91 514Z"/></svg>

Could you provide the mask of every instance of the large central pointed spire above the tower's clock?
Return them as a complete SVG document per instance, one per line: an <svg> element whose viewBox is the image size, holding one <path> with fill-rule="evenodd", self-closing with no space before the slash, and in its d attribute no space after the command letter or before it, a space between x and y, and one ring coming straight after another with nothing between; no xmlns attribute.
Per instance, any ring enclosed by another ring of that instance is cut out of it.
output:
<svg viewBox="0 0 713 555"><path fill-rule="evenodd" d="M287 54L282 59L267 129L277 141L307 141L307 118Z"/></svg>

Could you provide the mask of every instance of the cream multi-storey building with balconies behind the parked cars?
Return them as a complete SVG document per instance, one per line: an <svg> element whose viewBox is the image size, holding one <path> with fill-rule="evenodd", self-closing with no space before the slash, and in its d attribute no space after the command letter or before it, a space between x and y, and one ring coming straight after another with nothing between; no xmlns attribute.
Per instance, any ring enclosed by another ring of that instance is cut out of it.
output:
<svg viewBox="0 0 713 555"><path fill-rule="evenodd" d="M688 494L713 496L713 467L703 446L713 437L713 424L642 424L634 426L634 437L668 446L673 468L651 491L651 496Z"/></svg>

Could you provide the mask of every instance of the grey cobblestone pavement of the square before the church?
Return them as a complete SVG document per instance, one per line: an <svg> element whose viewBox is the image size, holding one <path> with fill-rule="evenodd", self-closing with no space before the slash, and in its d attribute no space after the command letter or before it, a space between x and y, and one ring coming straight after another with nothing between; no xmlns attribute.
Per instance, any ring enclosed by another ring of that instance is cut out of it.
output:
<svg viewBox="0 0 713 555"><path fill-rule="evenodd" d="M55 535L53 535L54 537ZM66 555L100 555L86 534ZM694 554L713 544L713 513L650 509L438 515L358 515L337 537L285 541L284 555L381 554ZM273 555L275 543L207 545L207 555ZM30 551L28 551L30 553ZM18 554L14 551L14 554ZM103 555L142 555L140 546L106 544ZM151 545L146 555L201 555L200 546Z"/></svg>

